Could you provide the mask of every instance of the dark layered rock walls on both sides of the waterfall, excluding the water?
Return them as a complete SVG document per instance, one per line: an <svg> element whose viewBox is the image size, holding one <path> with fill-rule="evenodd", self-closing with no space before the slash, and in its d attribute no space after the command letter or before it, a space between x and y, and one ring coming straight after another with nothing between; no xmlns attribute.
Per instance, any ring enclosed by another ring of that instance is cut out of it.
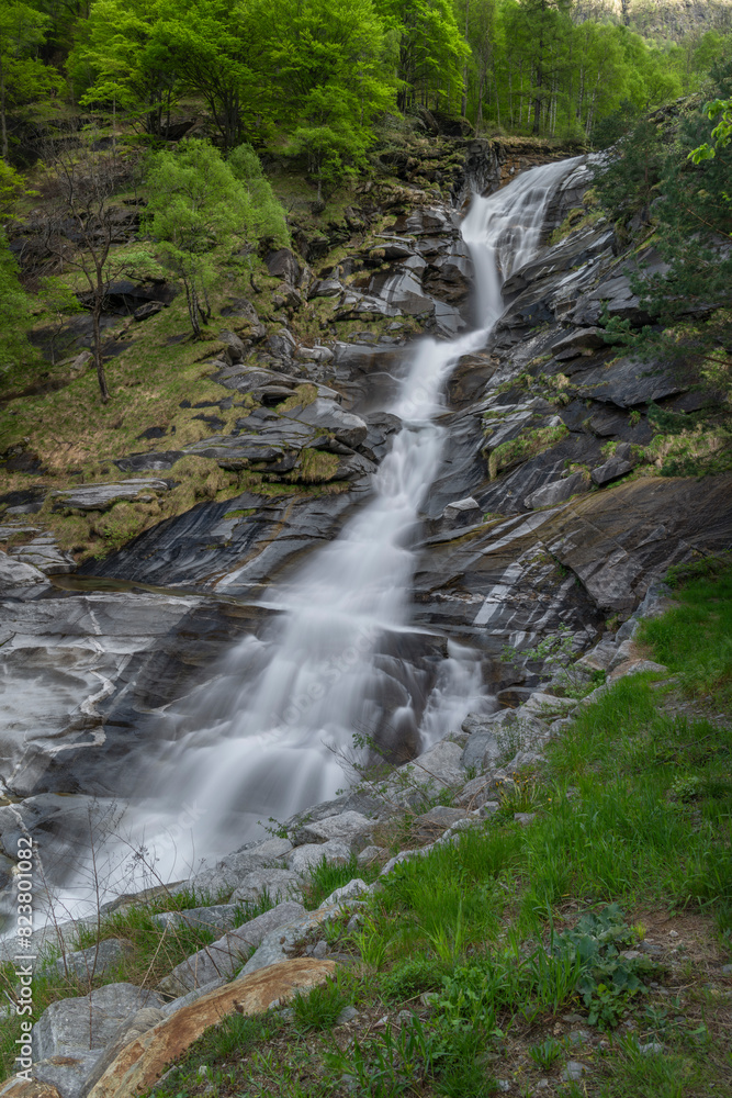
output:
<svg viewBox="0 0 732 1098"><path fill-rule="evenodd" d="M3 497L5 883L19 830L58 866L74 864L89 813L134 804L146 769L174 752L185 714L206 707L214 681L236 680L232 647L269 635L283 610L277 593L368 507L401 426L392 406L414 355L405 332L439 343L473 327L473 261L460 234L471 193L556 159L491 142L457 143L450 156L429 169L442 183L451 172L449 200L397 158L395 181L365 190L349 215L360 233L368 221L360 247L347 232L333 264L323 264L328 240L268 257L280 315L312 303L319 339L263 325L241 298L222 310L236 330L222 332L206 363L221 389L200 413L213 434L120 455L119 478L50 501L42 483ZM603 338L605 315L647 322L630 271L661 260L642 242L628 251L583 205L590 182L585 158L561 172L539 249L510 269L502 315L447 377L435 421L447 445L407 538L408 628L375 652L381 716L367 731L393 761L425 746L421 719L457 651L473 653L471 690L484 709L516 707L541 668L502 661L507 645L530 649L560 626L576 652L609 641L669 565L730 544L730 477L660 475L650 415L688 413L707 397L688 373L618 357ZM162 500L191 457L245 474L246 489L80 568L43 526L43 507L113 514L129 500ZM413 715L395 727L405 706ZM460 735L461 722L432 735ZM318 789L306 785L293 807L320 799ZM255 816L266 818L264 800Z"/></svg>

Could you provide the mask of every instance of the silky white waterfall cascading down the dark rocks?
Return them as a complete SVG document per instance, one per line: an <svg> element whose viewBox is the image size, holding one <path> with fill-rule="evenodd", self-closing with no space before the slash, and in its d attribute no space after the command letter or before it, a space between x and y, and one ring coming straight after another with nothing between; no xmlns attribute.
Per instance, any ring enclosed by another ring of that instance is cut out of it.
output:
<svg viewBox="0 0 732 1098"><path fill-rule="evenodd" d="M155 795L135 806L131 821L133 845L144 836L160 876L180 876L201 855L234 849L256 832L257 820L333 797L347 784L342 757L356 731L379 736L386 727L424 749L481 704L476 653L450 643L429 679L408 658L409 645L429 642L409 625L409 537L446 441L435 422L443 382L462 355L485 345L503 312L500 284L537 250L548 203L574 164L534 168L473 199L462 235L481 326L452 343L417 345L390 408L402 430L374 477L371 502L267 596L277 612L269 632L245 637L218 679L190 696L174 743L155 763ZM195 806L191 834L179 830L176 843L166 842L183 803Z"/></svg>

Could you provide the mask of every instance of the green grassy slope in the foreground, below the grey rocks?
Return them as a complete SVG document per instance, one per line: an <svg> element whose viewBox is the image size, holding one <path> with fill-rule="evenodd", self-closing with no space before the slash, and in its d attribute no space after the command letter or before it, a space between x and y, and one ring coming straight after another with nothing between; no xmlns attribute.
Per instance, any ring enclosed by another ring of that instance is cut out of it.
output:
<svg viewBox="0 0 732 1098"><path fill-rule="evenodd" d="M397 867L350 931L349 916L327 925L336 981L289 1013L225 1020L156 1094L481 1098L496 1079L514 1095L728 1094L731 626L729 561L687 578L637 637L668 676L622 679L584 707L484 828ZM517 811L533 818L521 826ZM397 850L414 845L409 831L405 818L379 839ZM316 871L308 906L356 873ZM202 899L215 897L177 904ZM164 896L102 922L102 938L132 948L93 986L155 986L205 944L205 932L161 938L150 915L171 906ZM83 984L43 978L36 1004ZM336 1026L347 1005L358 1016ZM14 1035L7 1022L5 1062ZM563 1078L570 1060L587 1069L579 1080Z"/></svg>

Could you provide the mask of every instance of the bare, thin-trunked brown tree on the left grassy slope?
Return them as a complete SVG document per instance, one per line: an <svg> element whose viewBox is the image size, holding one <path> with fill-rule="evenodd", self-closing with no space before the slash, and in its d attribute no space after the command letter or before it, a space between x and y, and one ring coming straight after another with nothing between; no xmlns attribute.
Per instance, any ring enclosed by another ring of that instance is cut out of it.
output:
<svg viewBox="0 0 732 1098"><path fill-rule="evenodd" d="M85 135L80 148L48 150L56 171L59 197L46 217L45 245L60 270L76 270L86 288L92 317L92 351L102 403L110 399L102 354L101 317L112 283L150 266L144 248L121 249L111 199L125 179L128 166L115 153L99 148L94 133ZM69 224L71 228L69 228Z"/></svg>

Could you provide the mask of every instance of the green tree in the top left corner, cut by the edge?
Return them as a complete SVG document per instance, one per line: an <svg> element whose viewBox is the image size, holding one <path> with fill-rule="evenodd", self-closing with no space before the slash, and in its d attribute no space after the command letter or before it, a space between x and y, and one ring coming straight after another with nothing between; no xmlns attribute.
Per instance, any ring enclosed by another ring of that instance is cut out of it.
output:
<svg viewBox="0 0 732 1098"><path fill-rule="evenodd" d="M0 152L8 159L8 111L58 87L58 75L38 60L48 16L25 3L0 8Z"/></svg>

